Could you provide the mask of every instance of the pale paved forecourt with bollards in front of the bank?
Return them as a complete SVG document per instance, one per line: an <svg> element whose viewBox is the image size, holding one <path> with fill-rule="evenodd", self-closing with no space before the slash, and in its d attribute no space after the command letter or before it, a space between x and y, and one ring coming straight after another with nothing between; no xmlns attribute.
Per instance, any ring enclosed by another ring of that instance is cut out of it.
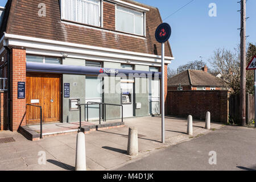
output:
<svg viewBox="0 0 256 182"><path fill-rule="evenodd" d="M166 143L161 143L161 118L139 117L124 119L125 127L93 131L85 135L87 170L113 170L177 143L192 140L222 127L212 123L212 130L204 129L205 122L193 120L193 136L187 135L187 119L166 117ZM126 155L130 126L138 129L139 155ZM13 137L15 142L0 143L0 170L59 171L74 170L76 134L46 137L36 142L17 132L1 131L0 139ZM45 156L46 164L42 163ZM145 168L143 168L145 169Z"/></svg>

